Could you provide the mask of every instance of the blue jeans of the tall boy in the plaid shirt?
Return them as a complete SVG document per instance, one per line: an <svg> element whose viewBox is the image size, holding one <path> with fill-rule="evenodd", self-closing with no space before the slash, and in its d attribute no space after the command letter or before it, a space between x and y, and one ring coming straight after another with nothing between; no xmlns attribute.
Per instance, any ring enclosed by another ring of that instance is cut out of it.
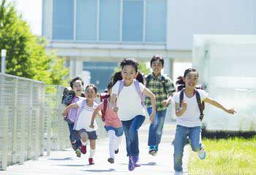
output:
<svg viewBox="0 0 256 175"><path fill-rule="evenodd" d="M152 108L147 108L148 114L151 115ZM156 116L154 117L154 123L149 126L148 132L148 146L157 146L162 137L162 128L165 123L166 109L160 112L156 111Z"/></svg>

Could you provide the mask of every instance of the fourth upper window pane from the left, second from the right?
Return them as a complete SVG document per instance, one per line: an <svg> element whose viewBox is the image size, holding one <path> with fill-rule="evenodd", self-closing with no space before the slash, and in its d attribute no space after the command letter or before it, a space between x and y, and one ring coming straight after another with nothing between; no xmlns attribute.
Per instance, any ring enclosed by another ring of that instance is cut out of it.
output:
<svg viewBox="0 0 256 175"><path fill-rule="evenodd" d="M143 1L123 1L124 42L143 42Z"/></svg>

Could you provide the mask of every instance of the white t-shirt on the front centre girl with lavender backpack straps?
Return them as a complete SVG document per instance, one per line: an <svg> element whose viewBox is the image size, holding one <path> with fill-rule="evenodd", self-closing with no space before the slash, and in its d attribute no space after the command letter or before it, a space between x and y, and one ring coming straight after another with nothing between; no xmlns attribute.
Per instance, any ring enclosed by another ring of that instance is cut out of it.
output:
<svg viewBox="0 0 256 175"><path fill-rule="evenodd" d="M119 82L112 88L112 93L118 95ZM143 92L145 86L139 83L140 92ZM124 86L117 97L116 106L118 106L118 117L120 120L132 120L136 115L146 115L145 109L141 104L141 98L138 94L135 83L132 85Z"/></svg>

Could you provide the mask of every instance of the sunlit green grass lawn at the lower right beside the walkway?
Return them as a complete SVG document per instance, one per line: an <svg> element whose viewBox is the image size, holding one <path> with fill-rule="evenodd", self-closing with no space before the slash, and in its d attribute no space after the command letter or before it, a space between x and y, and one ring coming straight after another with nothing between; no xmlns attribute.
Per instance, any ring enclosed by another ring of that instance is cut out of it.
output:
<svg viewBox="0 0 256 175"><path fill-rule="evenodd" d="M206 159L189 154L189 175L256 174L256 137L254 139L203 139Z"/></svg>

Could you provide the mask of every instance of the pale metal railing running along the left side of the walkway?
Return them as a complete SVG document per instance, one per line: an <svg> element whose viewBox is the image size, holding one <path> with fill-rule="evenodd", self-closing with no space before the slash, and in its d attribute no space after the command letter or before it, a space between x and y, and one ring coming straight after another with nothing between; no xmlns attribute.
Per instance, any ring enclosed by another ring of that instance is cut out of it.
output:
<svg viewBox="0 0 256 175"><path fill-rule="evenodd" d="M70 147L61 104L64 87L0 73L0 170L45 151ZM107 136L97 118L99 138Z"/></svg>

